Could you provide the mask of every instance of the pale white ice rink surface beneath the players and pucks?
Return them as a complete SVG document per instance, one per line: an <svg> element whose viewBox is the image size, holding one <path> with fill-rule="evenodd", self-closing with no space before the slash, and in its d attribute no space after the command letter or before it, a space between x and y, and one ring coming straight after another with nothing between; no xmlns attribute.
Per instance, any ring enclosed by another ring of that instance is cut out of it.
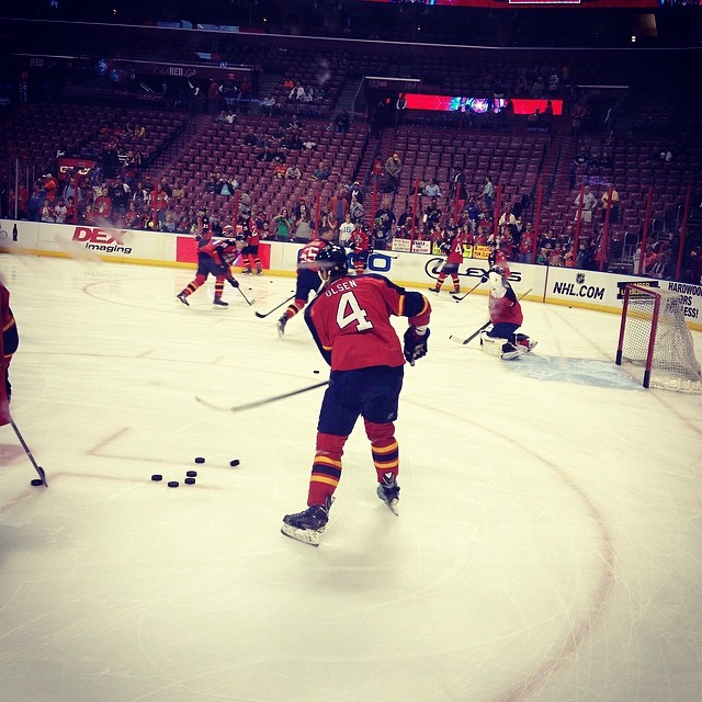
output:
<svg viewBox="0 0 702 702"><path fill-rule="evenodd" d="M525 301L539 346L500 362L449 340L487 302L444 285L406 369L400 516L359 424L313 548L280 524L305 507L322 390L194 399L328 376L301 316L279 339L280 313L253 314L293 279L238 275L256 304L227 287L219 309L212 288L178 303L189 269L0 273L13 417L49 480L0 428L3 701L702 700L702 398L615 366L616 316Z"/></svg>

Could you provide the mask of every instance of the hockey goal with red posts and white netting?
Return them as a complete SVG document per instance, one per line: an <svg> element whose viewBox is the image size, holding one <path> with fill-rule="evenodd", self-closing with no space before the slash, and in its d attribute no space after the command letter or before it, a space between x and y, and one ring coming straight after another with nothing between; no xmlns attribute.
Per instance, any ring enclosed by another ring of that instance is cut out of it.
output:
<svg viewBox="0 0 702 702"><path fill-rule="evenodd" d="M679 293L630 284L624 291L616 364L643 369L644 387L702 393L700 363Z"/></svg>

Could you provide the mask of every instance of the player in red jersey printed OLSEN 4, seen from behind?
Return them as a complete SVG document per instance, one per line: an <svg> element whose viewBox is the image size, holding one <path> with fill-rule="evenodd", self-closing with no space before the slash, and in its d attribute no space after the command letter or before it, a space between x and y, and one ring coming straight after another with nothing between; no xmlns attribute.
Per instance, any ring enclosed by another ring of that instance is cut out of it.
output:
<svg viewBox="0 0 702 702"><path fill-rule="evenodd" d="M307 491L307 509L283 518L286 536L319 545L341 478L341 456L349 434L363 417L375 466L377 496L398 513L397 418L404 365L427 353L429 301L377 274L348 275L346 250L328 246L317 254L325 287L309 304L305 321L331 366L319 410L317 443ZM404 346L390 322L407 317Z"/></svg>

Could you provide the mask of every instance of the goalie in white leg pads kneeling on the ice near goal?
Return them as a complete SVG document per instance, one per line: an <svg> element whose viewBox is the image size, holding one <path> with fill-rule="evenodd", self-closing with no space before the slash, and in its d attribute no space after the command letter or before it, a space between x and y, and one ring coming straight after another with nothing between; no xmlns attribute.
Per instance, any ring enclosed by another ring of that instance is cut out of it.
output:
<svg viewBox="0 0 702 702"><path fill-rule="evenodd" d="M510 361L531 351L536 341L524 333L517 333L524 316L519 299L507 281L505 269L491 268L488 282L490 292L487 305L492 327L480 333L480 348L503 361Z"/></svg>

